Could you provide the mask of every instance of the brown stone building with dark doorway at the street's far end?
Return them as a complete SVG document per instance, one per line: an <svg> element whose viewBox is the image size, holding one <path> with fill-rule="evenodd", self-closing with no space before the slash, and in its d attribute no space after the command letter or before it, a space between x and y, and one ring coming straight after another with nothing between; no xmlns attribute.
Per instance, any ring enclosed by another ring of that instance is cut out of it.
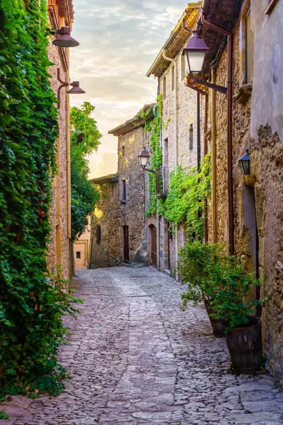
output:
<svg viewBox="0 0 283 425"><path fill-rule="evenodd" d="M146 261L144 235L144 171L139 151L148 146L146 119L153 105L146 105L132 119L109 131L118 137L118 172L92 179L101 201L92 217L89 267L109 267L121 262ZM148 111L147 117L142 117Z"/></svg>

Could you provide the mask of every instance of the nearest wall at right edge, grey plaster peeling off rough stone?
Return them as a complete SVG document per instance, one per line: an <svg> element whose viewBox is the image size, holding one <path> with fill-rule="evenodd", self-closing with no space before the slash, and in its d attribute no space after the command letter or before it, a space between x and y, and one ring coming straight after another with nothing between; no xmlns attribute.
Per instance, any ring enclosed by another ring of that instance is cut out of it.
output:
<svg viewBox="0 0 283 425"><path fill-rule="evenodd" d="M262 315L264 348L268 368L283 387L283 3L278 1L270 15L265 10L266 1L254 5L250 163L264 276L261 294L269 297Z"/></svg>

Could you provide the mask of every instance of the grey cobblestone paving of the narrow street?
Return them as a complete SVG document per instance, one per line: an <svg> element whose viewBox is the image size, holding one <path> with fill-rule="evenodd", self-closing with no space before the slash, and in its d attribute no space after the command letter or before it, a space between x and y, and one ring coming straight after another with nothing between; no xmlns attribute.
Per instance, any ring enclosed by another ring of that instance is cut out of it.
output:
<svg viewBox="0 0 283 425"><path fill-rule="evenodd" d="M77 272L84 313L67 319L58 397L12 397L0 424L283 424L271 376L232 375L203 306L180 310L180 284L152 267Z"/></svg>

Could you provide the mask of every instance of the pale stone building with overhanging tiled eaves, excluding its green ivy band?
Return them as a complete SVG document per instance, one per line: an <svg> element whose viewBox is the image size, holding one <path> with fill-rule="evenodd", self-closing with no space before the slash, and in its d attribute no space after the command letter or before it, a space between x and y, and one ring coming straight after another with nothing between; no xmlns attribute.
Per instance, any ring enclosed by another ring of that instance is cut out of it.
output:
<svg viewBox="0 0 283 425"><path fill-rule="evenodd" d="M170 174L176 167L180 166L187 170L197 167L198 153L199 158L203 156L205 98L185 86L187 63L185 56L182 55L189 39L189 33L182 28L182 19L185 19L185 24L193 29L199 15L200 3L187 5L187 9L146 74L148 77L158 78L158 91L163 99L162 121L165 125L162 126L160 144L162 177L166 190L169 188ZM185 245L185 226L180 226L177 231L172 232L171 224L164 217L156 215L147 217L146 224L151 263L173 273L178 260L176 252Z"/></svg>

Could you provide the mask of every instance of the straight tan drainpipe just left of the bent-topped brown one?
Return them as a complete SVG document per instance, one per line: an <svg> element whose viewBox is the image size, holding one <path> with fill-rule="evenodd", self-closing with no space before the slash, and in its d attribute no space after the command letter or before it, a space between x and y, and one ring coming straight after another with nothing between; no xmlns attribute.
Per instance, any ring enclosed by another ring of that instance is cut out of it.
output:
<svg viewBox="0 0 283 425"><path fill-rule="evenodd" d="M212 68L212 84L216 83L216 69ZM212 242L217 243L217 173L216 173L216 91L212 90Z"/></svg>

